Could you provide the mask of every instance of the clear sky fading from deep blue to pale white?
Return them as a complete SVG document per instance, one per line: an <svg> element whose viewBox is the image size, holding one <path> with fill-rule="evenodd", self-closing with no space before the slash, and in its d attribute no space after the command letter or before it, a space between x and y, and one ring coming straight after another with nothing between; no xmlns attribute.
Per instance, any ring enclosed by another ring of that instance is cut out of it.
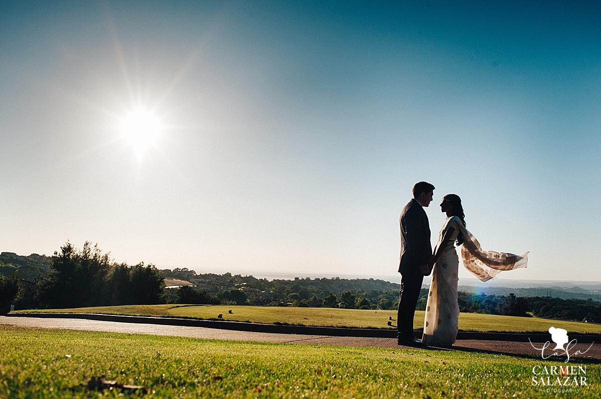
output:
<svg viewBox="0 0 601 399"><path fill-rule="evenodd" d="M601 5L413 3L0 2L0 250L394 275L424 180L433 242L456 193L499 277L601 280Z"/></svg>

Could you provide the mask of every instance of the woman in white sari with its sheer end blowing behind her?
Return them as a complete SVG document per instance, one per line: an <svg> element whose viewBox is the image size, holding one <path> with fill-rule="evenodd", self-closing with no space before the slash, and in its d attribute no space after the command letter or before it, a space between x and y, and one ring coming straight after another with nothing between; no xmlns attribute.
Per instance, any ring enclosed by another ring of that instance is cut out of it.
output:
<svg viewBox="0 0 601 399"><path fill-rule="evenodd" d="M442 198L441 211L447 214L447 221L438 233L438 244L430 267L432 283L426 304L424 317L424 336L422 342L431 346L451 346L455 343L459 331L459 304L457 304L457 272L459 257L457 247L462 245L463 266L481 281L494 278L499 271L525 268L528 253L517 256L508 253L483 251L480 243L465 228L465 215L461 199L456 194L447 194Z"/></svg>

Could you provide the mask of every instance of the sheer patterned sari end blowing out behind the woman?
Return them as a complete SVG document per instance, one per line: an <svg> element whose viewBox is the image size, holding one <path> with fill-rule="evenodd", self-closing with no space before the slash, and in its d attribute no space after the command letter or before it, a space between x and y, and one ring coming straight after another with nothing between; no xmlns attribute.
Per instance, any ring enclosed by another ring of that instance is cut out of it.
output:
<svg viewBox="0 0 601 399"><path fill-rule="evenodd" d="M463 266L481 281L495 278L498 272L525 268L528 265L528 252L514 255L505 252L483 251L480 242L462 223L457 223L463 235L461 257Z"/></svg>

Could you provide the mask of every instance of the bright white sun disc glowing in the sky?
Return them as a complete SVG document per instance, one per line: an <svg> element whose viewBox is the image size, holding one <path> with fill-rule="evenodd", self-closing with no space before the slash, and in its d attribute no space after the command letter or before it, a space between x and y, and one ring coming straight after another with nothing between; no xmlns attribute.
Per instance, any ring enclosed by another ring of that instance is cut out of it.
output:
<svg viewBox="0 0 601 399"><path fill-rule="evenodd" d="M156 146L163 130L160 118L147 109L138 107L121 118L119 131L121 139L132 146L141 158L151 146Z"/></svg>

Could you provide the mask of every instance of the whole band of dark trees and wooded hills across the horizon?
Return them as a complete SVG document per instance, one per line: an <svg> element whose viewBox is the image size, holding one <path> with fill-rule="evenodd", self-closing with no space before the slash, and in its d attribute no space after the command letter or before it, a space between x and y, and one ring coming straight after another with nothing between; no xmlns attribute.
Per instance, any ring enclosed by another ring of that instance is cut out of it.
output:
<svg viewBox="0 0 601 399"><path fill-rule="evenodd" d="M143 262L130 266L112 262L90 242L82 250L67 242L52 257L2 253L0 259L11 262L0 265L0 313L11 304L16 310L166 303L396 310L400 288L373 278L269 281L251 275L196 274L186 268L159 270ZM164 278L192 281L196 287L165 289ZM416 309L426 309L427 295L422 289ZM462 312L601 323L601 302L592 299L459 292L457 302Z"/></svg>

